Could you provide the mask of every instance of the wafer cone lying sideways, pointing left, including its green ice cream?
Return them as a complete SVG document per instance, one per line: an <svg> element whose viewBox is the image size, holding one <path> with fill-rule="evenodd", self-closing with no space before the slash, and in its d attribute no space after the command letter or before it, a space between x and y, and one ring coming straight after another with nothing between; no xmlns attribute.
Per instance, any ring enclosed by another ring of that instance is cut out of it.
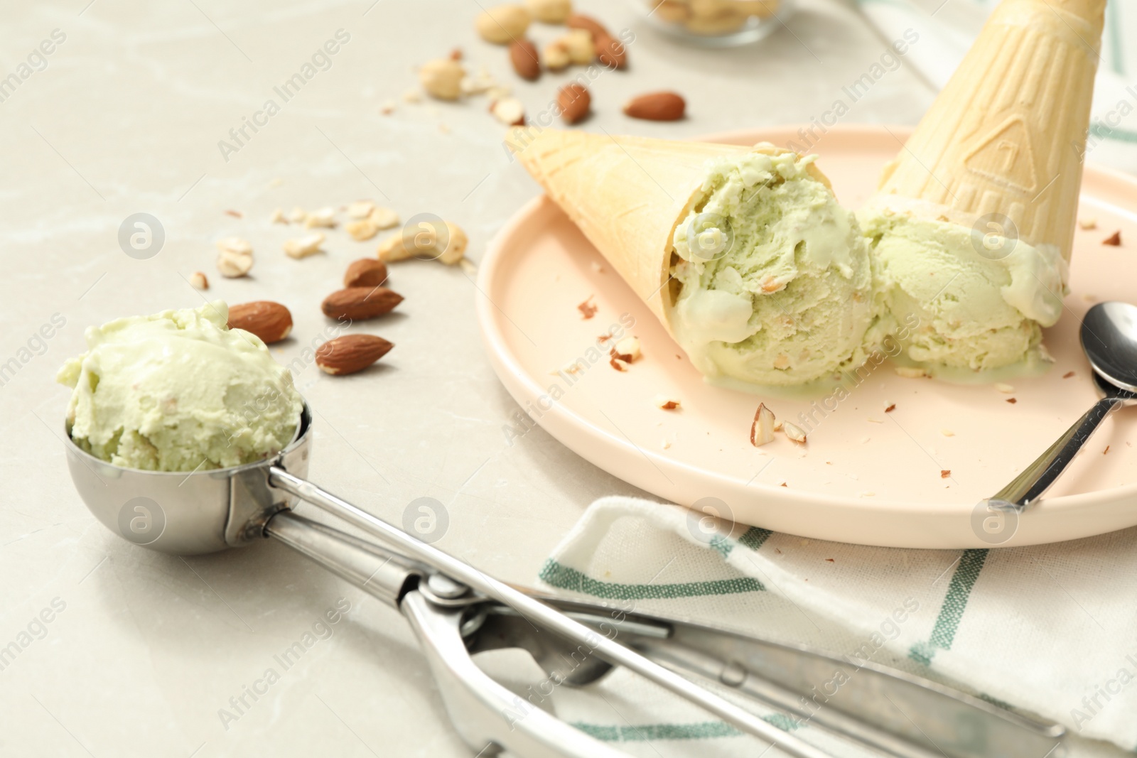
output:
<svg viewBox="0 0 1137 758"><path fill-rule="evenodd" d="M707 377L798 384L861 356L868 249L812 158L555 130L509 140Z"/></svg>

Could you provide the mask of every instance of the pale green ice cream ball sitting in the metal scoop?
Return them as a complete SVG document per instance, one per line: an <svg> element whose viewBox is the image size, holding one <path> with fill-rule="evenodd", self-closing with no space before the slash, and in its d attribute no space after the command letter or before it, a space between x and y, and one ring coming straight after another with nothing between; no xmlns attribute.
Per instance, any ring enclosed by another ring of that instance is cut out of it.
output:
<svg viewBox="0 0 1137 758"><path fill-rule="evenodd" d="M218 300L86 330L59 370L70 436L126 468L192 472L264 459L296 434L304 401L265 343Z"/></svg>

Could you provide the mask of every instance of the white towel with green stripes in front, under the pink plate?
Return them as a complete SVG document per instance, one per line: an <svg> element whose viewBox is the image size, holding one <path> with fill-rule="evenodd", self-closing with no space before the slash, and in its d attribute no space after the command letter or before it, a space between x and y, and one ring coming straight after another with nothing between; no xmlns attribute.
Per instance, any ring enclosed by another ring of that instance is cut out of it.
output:
<svg viewBox="0 0 1137 758"><path fill-rule="evenodd" d="M1064 724L1070 756L1137 751L1137 528L1032 548L902 550L716 524L679 506L613 497L589 507L540 581L939 680ZM559 688L555 706L631 755L762 751L625 672ZM760 713L835 756L866 755Z"/></svg>

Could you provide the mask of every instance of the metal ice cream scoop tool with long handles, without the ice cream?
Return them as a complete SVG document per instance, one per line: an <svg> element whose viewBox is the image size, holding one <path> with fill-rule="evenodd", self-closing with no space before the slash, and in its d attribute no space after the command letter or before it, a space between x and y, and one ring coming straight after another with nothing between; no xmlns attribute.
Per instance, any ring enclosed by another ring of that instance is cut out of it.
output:
<svg viewBox="0 0 1137 758"><path fill-rule="evenodd" d="M80 449L69 430L67 460L88 508L132 542L193 555L275 538L401 610L451 720L480 756L625 755L531 706L471 659L497 648L528 650L550 681L567 685L626 666L796 758L829 753L697 682L901 758L1037 758L1052 755L1064 732L866 660L515 589L307 482L310 445L305 406L294 441L265 461L191 474L128 469ZM293 514L298 500L382 545Z"/></svg>

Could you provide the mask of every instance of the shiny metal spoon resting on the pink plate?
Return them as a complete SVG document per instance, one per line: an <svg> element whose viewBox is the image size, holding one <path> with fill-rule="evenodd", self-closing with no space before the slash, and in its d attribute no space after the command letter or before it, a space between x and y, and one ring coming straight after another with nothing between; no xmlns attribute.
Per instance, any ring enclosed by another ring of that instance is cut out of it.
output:
<svg viewBox="0 0 1137 758"><path fill-rule="evenodd" d="M1062 475L1105 417L1137 405L1137 306L1101 302L1081 323L1081 349L1094 369L1102 399L1074 422L1038 460L988 500L997 509L1021 511L1037 501Z"/></svg>

